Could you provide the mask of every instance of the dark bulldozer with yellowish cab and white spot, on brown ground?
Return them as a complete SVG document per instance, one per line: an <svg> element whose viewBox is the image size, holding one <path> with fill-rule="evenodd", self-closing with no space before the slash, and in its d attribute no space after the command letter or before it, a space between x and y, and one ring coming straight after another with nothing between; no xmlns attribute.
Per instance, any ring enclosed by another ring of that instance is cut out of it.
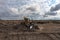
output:
<svg viewBox="0 0 60 40"><path fill-rule="evenodd" d="M36 25L32 20L24 17L23 22L15 26L15 29L20 29L23 31L36 31L38 30L38 25Z"/></svg>

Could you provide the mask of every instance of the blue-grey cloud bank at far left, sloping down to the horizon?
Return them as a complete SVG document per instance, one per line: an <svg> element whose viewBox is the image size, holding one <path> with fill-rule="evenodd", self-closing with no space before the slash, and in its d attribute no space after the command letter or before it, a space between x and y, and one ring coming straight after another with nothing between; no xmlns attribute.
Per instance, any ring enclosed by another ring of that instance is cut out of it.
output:
<svg viewBox="0 0 60 40"><path fill-rule="evenodd" d="M14 13L9 10L7 7L0 7L0 19L2 20L12 20L12 19L17 19L19 16L14 15Z"/></svg>

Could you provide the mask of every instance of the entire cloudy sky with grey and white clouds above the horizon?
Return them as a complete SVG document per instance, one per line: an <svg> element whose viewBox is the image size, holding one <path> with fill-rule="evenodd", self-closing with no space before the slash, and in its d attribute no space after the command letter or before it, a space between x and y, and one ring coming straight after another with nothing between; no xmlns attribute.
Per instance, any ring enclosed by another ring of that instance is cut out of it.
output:
<svg viewBox="0 0 60 40"><path fill-rule="evenodd" d="M60 20L60 0L0 0L0 19Z"/></svg>

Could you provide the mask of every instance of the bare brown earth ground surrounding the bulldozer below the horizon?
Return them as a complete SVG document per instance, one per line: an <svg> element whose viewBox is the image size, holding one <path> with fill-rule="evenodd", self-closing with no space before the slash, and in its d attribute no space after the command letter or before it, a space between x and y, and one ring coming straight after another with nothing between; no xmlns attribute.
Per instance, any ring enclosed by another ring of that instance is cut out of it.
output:
<svg viewBox="0 0 60 40"><path fill-rule="evenodd" d="M0 40L60 40L60 21L35 22L39 27L35 32L14 29L20 22L0 21Z"/></svg>

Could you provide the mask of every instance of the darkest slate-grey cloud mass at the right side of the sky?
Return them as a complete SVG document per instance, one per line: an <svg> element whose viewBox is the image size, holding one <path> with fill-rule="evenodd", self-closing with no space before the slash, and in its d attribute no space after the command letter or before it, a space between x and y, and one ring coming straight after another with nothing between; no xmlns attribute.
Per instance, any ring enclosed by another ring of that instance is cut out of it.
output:
<svg viewBox="0 0 60 40"><path fill-rule="evenodd" d="M57 15L57 10L60 9L60 4L57 4L55 7L51 7L50 11L45 13L45 17L48 17L48 15L50 16L56 16Z"/></svg>

